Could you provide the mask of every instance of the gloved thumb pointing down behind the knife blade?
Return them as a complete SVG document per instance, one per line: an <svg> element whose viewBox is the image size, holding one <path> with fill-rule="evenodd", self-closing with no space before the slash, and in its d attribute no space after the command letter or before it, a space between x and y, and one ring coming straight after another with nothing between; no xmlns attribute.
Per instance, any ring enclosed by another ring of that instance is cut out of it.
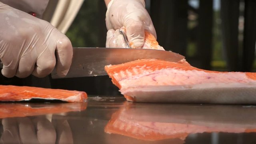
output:
<svg viewBox="0 0 256 144"><path fill-rule="evenodd" d="M141 48L144 45L144 26L142 22L129 19L124 24L130 47Z"/></svg>

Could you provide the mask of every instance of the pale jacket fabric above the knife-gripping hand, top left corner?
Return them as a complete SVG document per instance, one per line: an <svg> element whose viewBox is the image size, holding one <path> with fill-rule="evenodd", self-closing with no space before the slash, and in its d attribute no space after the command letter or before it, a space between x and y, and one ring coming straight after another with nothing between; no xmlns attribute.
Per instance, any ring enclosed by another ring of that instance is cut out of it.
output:
<svg viewBox="0 0 256 144"><path fill-rule="evenodd" d="M37 18L42 18L49 0L0 0L0 2L23 12L34 12Z"/></svg>

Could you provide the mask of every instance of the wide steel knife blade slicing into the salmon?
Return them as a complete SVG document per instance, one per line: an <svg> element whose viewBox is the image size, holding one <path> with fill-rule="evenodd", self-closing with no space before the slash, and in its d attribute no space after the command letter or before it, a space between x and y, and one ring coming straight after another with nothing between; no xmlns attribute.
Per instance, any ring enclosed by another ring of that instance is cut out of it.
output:
<svg viewBox="0 0 256 144"><path fill-rule="evenodd" d="M139 59L155 58L177 62L184 56L165 50L140 48L73 48L70 70L64 78L107 75L106 65L122 64ZM59 77L54 69L52 78Z"/></svg>

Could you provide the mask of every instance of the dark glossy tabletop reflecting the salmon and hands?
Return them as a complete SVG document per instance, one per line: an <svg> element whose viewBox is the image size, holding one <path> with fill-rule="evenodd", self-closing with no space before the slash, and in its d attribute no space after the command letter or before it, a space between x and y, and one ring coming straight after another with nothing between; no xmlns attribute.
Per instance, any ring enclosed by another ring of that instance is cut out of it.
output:
<svg viewBox="0 0 256 144"><path fill-rule="evenodd" d="M94 96L84 103L0 103L0 118L0 143L256 143L251 105L145 104Z"/></svg>

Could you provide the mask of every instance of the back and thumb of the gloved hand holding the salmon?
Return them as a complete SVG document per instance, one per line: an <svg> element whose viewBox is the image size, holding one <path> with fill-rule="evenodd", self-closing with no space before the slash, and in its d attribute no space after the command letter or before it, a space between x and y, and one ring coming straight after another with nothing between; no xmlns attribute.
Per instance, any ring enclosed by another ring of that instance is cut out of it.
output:
<svg viewBox="0 0 256 144"><path fill-rule="evenodd" d="M156 30L144 0L111 0L106 12L106 26L108 30L124 26L132 48L143 46L144 30L148 30L156 38Z"/></svg>

